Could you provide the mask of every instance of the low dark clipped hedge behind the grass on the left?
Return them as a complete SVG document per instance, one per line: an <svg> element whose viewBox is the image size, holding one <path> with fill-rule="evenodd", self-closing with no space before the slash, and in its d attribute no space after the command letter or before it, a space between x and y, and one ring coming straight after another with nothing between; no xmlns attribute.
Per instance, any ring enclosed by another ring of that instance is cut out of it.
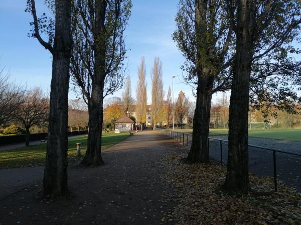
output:
<svg viewBox="0 0 301 225"><path fill-rule="evenodd" d="M75 136L75 135L82 135L87 134L88 130L80 130L80 131L68 131L68 136ZM30 134L30 141L34 140L43 140L47 137L48 133L31 133ZM0 136L0 145L3 144L14 144L25 142L25 134L22 135L10 135L10 136Z"/></svg>

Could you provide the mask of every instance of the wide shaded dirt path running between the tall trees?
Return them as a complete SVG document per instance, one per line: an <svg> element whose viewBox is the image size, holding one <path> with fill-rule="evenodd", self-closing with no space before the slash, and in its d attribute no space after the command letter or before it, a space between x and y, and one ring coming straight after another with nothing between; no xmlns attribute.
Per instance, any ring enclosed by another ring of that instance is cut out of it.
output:
<svg viewBox="0 0 301 225"><path fill-rule="evenodd" d="M40 198L41 182L0 201L0 224L162 224L175 202L162 183L157 163L170 151L181 151L173 140L143 131L107 148L97 168L69 168L72 196L58 201ZM164 219L163 219L164 220Z"/></svg>

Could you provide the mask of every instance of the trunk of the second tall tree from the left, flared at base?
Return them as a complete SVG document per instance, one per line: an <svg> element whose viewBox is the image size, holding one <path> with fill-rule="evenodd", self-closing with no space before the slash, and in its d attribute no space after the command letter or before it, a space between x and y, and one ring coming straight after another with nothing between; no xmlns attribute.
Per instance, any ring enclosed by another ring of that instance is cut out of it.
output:
<svg viewBox="0 0 301 225"><path fill-rule="evenodd" d="M89 132L86 154L81 161L83 166L104 164L101 157L101 135L103 121L103 89L105 79L105 10L107 1L95 1L95 63L92 80L92 93L89 99Z"/></svg>

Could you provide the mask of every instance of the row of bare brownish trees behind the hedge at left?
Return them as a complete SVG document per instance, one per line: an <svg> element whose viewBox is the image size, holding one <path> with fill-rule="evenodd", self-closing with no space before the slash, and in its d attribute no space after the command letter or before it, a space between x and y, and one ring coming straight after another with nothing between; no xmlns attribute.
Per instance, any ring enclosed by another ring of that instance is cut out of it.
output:
<svg viewBox="0 0 301 225"><path fill-rule="evenodd" d="M12 134L25 133L25 145L30 144L30 133L34 127L44 129L48 126L49 93L40 87L29 89L9 81L9 74L0 71L0 127L13 124ZM78 99L71 99L68 108L68 127L72 131L85 129L88 121L87 111Z"/></svg>

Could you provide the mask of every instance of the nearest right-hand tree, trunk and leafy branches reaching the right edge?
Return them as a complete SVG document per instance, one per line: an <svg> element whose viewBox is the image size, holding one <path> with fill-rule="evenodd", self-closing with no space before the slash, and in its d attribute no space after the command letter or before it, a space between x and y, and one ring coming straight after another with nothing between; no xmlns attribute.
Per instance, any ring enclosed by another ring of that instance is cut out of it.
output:
<svg viewBox="0 0 301 225"><path fill-rule="evenodd" d="M298 52L290 43L298 39L301 3L298 0L237 0L236 3L227 1L236 33L236 54L224 187L229 191L247 192L249 97L256 95L259 96L257 102L265 99L270 103L295 99L294 88L301 82L300 62L288 54Z"/></svg>

